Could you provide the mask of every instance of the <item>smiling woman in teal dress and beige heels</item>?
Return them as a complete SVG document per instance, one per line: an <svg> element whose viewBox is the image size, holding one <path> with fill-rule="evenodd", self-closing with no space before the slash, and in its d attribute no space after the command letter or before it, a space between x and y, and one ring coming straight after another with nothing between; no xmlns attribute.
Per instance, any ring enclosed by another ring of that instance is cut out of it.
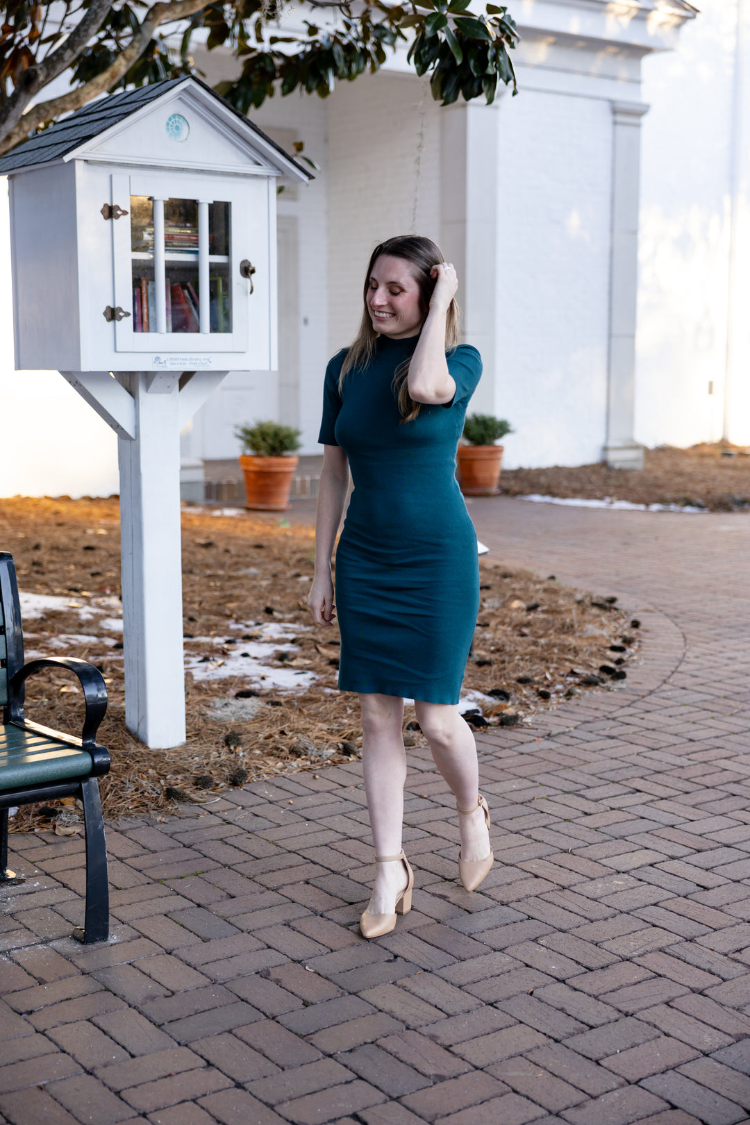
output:
<svg viewBox="0 0 750 1125"><path fill-rule="evenodd" d="M481 375L476 348L455 346L455 270L417 236L377 246L364 280L359 334L328 363L324 446L308 605L341 628L338 687L358 692L362 759L377 876L360 919L364 937L388 934L412 906L401 850L406 755L404 699L459 811L459 872L473 890L493 865L489 812L478 796L477 748L459 714L479 608L477 537L455 482L455 449Z"/></svg>

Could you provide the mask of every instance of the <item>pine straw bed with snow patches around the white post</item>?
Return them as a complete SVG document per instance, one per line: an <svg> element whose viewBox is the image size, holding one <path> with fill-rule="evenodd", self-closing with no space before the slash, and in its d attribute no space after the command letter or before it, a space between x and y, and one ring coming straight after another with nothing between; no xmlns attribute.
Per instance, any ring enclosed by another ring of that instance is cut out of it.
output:
<svg viewBox="0 0 750 1125"><path fill-rule="evenodd" d="M183 605L187 674L187 744L150 750L125 727L121 632L118 633L119 510L116 497L0 501L0 549L10 550L21 591L55 595L60 609L25 621L28 652L69 655L102 670L109 709L99 732L112 757L101 781L105 814L164 816L179 800L210 802L231 784L299 770L318 770L361 756L355 695L336 691L337 629L311 628L306 597L313 576L313 529L261 514L216 515L183 508ZM606 591L581 593L495 559L480 560L481 608L464 688L480 692L475 726L530 721L540 708L624 678L638 648L638 623ZM94 612L88 619L85 611ZM83 619L82 619L83 611ZM270 659L284 675L300 673L297 691L266 686L237 666L243 647L269 623L286 623ZM70 641L61 638L75 638ZM293 637L291 636L293 634ZM609 672L600 672L606 665ZM198 669L209 678L198 678ZM314 673L317 678L302 684ZM27 682L27 714L45 726L78 732L82 696L66 673ZM237 693L242 693L240 696ZM218 705L219 711L215 708ZM227 716L220 713L224 708ZM242 712L242 709L244 713ZM406 709L405 741L423 742L414 709ZM80 830L69 800L45 811L26 806L15 830Z"/></svg>

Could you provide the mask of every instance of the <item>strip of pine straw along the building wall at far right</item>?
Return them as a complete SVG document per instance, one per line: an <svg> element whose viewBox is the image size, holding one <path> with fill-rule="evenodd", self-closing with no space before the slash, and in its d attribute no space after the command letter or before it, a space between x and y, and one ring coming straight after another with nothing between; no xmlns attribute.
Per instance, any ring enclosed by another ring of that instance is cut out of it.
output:
<svg viewBox="0 0 750 1125"><path fill-rule="evenodd" d="M677 504L714 512L750 508L750 450L729 444L647 449L642 470L611 469L604 462L572 468L503 470L510 496L621 500L632 504Z"/></svg>

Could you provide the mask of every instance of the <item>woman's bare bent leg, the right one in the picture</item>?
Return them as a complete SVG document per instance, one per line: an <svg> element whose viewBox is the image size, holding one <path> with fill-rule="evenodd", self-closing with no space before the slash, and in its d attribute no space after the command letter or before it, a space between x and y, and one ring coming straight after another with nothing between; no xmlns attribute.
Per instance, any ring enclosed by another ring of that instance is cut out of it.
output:
<svg viewBox="0 0 750 1125"><path fill-rule="evenodd" d="M459 714L458 705L415 701L414 708L433 760L451 788L457 806L471 809L477 803L479 766L477 744L468 722ZM463 860L484 860L489 855L489 832L481 809L459 816L459 830Z"/></svg>

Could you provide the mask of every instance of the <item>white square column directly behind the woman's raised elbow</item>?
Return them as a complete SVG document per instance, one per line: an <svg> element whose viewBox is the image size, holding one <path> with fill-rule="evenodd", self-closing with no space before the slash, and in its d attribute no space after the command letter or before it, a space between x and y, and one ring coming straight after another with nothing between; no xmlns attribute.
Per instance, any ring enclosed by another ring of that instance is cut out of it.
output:
<svg viewBox="0 0 750 1125"><path fill-rule="evenodd" d="M459 274L462 339L479 349L484 361L471 410L494 414L498 102L455 102L440 115L441 249Z"/></svg>

